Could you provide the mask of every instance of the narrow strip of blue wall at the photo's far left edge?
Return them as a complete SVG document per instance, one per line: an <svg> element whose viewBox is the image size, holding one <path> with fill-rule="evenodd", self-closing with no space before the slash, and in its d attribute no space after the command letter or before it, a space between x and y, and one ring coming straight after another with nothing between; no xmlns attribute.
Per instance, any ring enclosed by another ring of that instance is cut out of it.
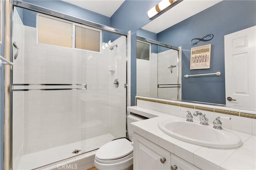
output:
<svg viewBox="0 0 256 170"><path fill-rule="evenodd" d="M0 55L4 57L4 13L5 1L2 1L2 44L0 44ZM0 170L4 170L4 66L0 67Z"/></svg>

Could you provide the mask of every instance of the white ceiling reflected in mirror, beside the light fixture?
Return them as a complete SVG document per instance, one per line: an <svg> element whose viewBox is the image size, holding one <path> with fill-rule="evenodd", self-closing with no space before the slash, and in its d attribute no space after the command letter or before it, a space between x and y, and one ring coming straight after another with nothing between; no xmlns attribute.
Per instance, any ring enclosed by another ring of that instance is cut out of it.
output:
<svg viewBox="0 0 256 170"><path fill-rule="evenodd" d="M143 26L142 29L159 33L221 1L222 0L183 0L164 14L150 21Z"/></svg>

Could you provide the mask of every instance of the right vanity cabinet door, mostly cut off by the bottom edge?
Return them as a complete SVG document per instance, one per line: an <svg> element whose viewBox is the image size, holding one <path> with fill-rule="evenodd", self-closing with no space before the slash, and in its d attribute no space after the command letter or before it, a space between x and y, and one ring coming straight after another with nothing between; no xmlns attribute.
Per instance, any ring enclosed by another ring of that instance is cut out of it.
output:
<svg viewBox="0 0 256 170"><path fill-rule="evenodd" d="M186 160L183 160L182 158L172 154L172 170L200 170L200 168L190 164Z"/></svg>

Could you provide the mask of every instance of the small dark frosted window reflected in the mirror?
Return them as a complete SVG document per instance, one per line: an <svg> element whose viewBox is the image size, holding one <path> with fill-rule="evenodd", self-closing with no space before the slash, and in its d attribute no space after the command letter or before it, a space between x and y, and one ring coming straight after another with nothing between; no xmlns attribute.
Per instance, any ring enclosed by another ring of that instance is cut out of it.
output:
<svg viewBox="0 0 256 170"><path fill-rule="evenodd" d="M137 41L137 44L136 44L137 59L149 60L149 52L150 52L149 49L150 49L150 44Z"/></svg>

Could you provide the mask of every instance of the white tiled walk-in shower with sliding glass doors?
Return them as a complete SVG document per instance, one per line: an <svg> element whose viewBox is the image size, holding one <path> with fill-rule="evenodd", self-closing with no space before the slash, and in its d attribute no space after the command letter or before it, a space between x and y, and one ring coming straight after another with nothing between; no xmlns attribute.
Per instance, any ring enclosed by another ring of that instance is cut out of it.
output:
<svg viewBox="0 0 256 170"><path fill-rule="evenodd" d="M32 7L15 6L12 12L14 170L38 168L126 136L127 34Z"/></svg>

